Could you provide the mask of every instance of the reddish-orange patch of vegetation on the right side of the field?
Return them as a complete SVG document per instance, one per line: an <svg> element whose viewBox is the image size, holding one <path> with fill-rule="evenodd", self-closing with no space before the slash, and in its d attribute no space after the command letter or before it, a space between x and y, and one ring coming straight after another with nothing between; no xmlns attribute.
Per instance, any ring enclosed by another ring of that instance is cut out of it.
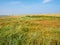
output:
<svg viewBox="0 0 60 45"><path fill-rule="evenodd" d="M29 22L33 24L38 24L41 26L50 26L50 27L60 26L60 21L57 21L57 20L41 20L41 21L30 20Z"/></svg>

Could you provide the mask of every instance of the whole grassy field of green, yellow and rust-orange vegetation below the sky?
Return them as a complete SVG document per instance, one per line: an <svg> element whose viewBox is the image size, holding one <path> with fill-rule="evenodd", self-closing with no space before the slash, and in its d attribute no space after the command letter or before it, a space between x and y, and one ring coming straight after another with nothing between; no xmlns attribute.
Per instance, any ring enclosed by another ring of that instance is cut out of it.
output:
<svg viewBox="0 0 60 45"><path fill-rule="evenodd" d="M0 17L0 45L60 45L60 16Z"/></svg>

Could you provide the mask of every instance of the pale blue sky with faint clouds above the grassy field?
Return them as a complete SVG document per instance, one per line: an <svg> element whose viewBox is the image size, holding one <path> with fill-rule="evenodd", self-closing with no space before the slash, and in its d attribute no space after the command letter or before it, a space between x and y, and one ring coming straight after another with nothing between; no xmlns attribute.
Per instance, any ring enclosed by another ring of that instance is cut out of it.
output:
<svg viewBox="0 0 60 45"><path fill-rule="evenodd" d="M0 0L0 15L60 13L60 0Z"/></svg>

